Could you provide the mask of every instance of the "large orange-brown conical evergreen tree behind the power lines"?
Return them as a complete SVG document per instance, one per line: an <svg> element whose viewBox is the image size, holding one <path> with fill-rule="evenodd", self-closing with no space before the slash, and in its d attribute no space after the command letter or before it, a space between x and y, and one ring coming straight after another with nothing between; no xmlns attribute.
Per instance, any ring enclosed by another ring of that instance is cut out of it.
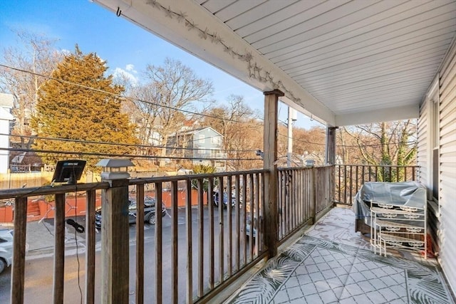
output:
<svg viewBox="0 0 456 304"><path fill-rule="evenodd" d="M121 112L123 87L114 85L108 67L95 53L84 55L76 46L57 65L51 79L38 91L36 115L31 124L37 139L36 150L75 152L73 155L41 154L50 164L58 159L78 157L78 153L130 154L133 147L105 145L98 142L135 145L135 125ZM50 137L62 140L41 139ZM86 142L85 142L86 141ZM88 169L105 156L83 156Z"/></svg>

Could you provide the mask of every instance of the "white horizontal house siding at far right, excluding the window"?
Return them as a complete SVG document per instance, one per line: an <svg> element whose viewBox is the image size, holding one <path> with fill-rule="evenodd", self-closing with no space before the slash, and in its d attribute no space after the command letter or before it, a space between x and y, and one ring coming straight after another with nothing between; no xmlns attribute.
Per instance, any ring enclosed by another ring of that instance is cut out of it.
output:
<svg viewBox="0 0 456 304"><path fill-rule="evenodd" d="M440 70L440 263L456 291L456 46Z"/></svg>

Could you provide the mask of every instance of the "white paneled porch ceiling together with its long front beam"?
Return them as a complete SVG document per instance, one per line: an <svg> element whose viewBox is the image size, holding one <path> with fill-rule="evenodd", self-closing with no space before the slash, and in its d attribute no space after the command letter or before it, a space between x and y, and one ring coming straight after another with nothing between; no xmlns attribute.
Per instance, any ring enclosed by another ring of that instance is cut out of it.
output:
<svg viewBox="0 0 456 304"><path fill-rule="evenodd" d="M95 0L327 125L418 117L454 0Z"/></svg>

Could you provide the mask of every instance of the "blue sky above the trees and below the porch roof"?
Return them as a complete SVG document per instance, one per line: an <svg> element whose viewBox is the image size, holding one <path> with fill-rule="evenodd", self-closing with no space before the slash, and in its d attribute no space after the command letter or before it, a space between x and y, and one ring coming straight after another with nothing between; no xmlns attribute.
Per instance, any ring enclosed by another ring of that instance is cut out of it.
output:
<svg viewBox="0 0 456 304"><path fill-rule="evenodd" d="M58 39L56 47L84 53L95 52L108 63L110 73L130 73L138 77L150 63L161 65L166 57L178 59L202 78L212 80L214 99L224 103L230 94L242 95L254 110L263 112L263 93L237 78L214 68L129 21L115 16L88 0L11 0L0 9L0 48L16 46L15 29L43 33ZM286 121L288 108L279 104L279 119ZM321 126L299 114L296 126Z"/></svg>

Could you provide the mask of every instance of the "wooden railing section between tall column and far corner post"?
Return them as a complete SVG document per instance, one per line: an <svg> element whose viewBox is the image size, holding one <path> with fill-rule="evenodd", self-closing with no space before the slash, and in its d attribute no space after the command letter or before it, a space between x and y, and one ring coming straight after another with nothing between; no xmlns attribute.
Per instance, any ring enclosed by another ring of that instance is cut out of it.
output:
<svg viewBox="0 0 456 304"><path fill-rule="evenodd" d="M281 168L279 171L279 241L314 224L333 205L333 166Z"/></svg>

